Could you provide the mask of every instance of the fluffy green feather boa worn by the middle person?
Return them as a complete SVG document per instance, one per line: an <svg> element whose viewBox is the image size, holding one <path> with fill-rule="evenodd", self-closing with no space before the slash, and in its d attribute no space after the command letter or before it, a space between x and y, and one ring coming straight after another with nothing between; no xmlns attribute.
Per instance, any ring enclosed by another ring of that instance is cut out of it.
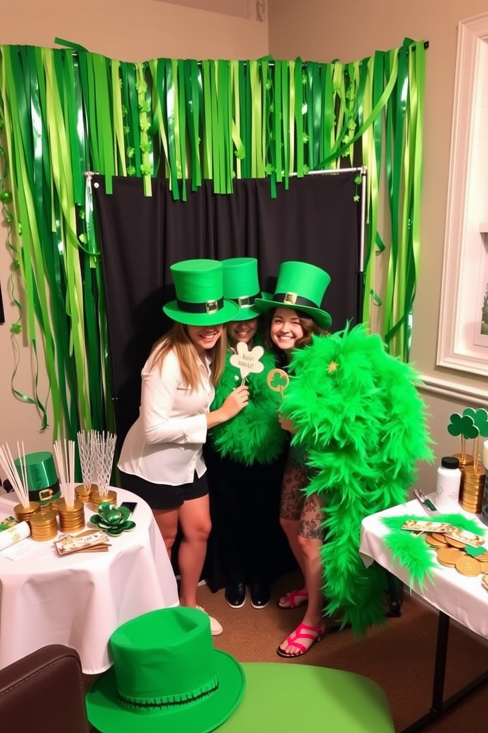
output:
<svg viewBox="0 0 488 733"><path fill-rule="evenodd" d="M230 364L230 356L229 353L224 373L215 388L212 410L217 410L228 394L241 383L239 369ZM260 361L264 364L263 371L246 377L249 402L244 410L211 429L211 441L217 451L245 465L271 463L283 452L288 439L277 416L281 395L272 391L266 383L268 372L275 367L274 356L265 350Z"/></svg>

